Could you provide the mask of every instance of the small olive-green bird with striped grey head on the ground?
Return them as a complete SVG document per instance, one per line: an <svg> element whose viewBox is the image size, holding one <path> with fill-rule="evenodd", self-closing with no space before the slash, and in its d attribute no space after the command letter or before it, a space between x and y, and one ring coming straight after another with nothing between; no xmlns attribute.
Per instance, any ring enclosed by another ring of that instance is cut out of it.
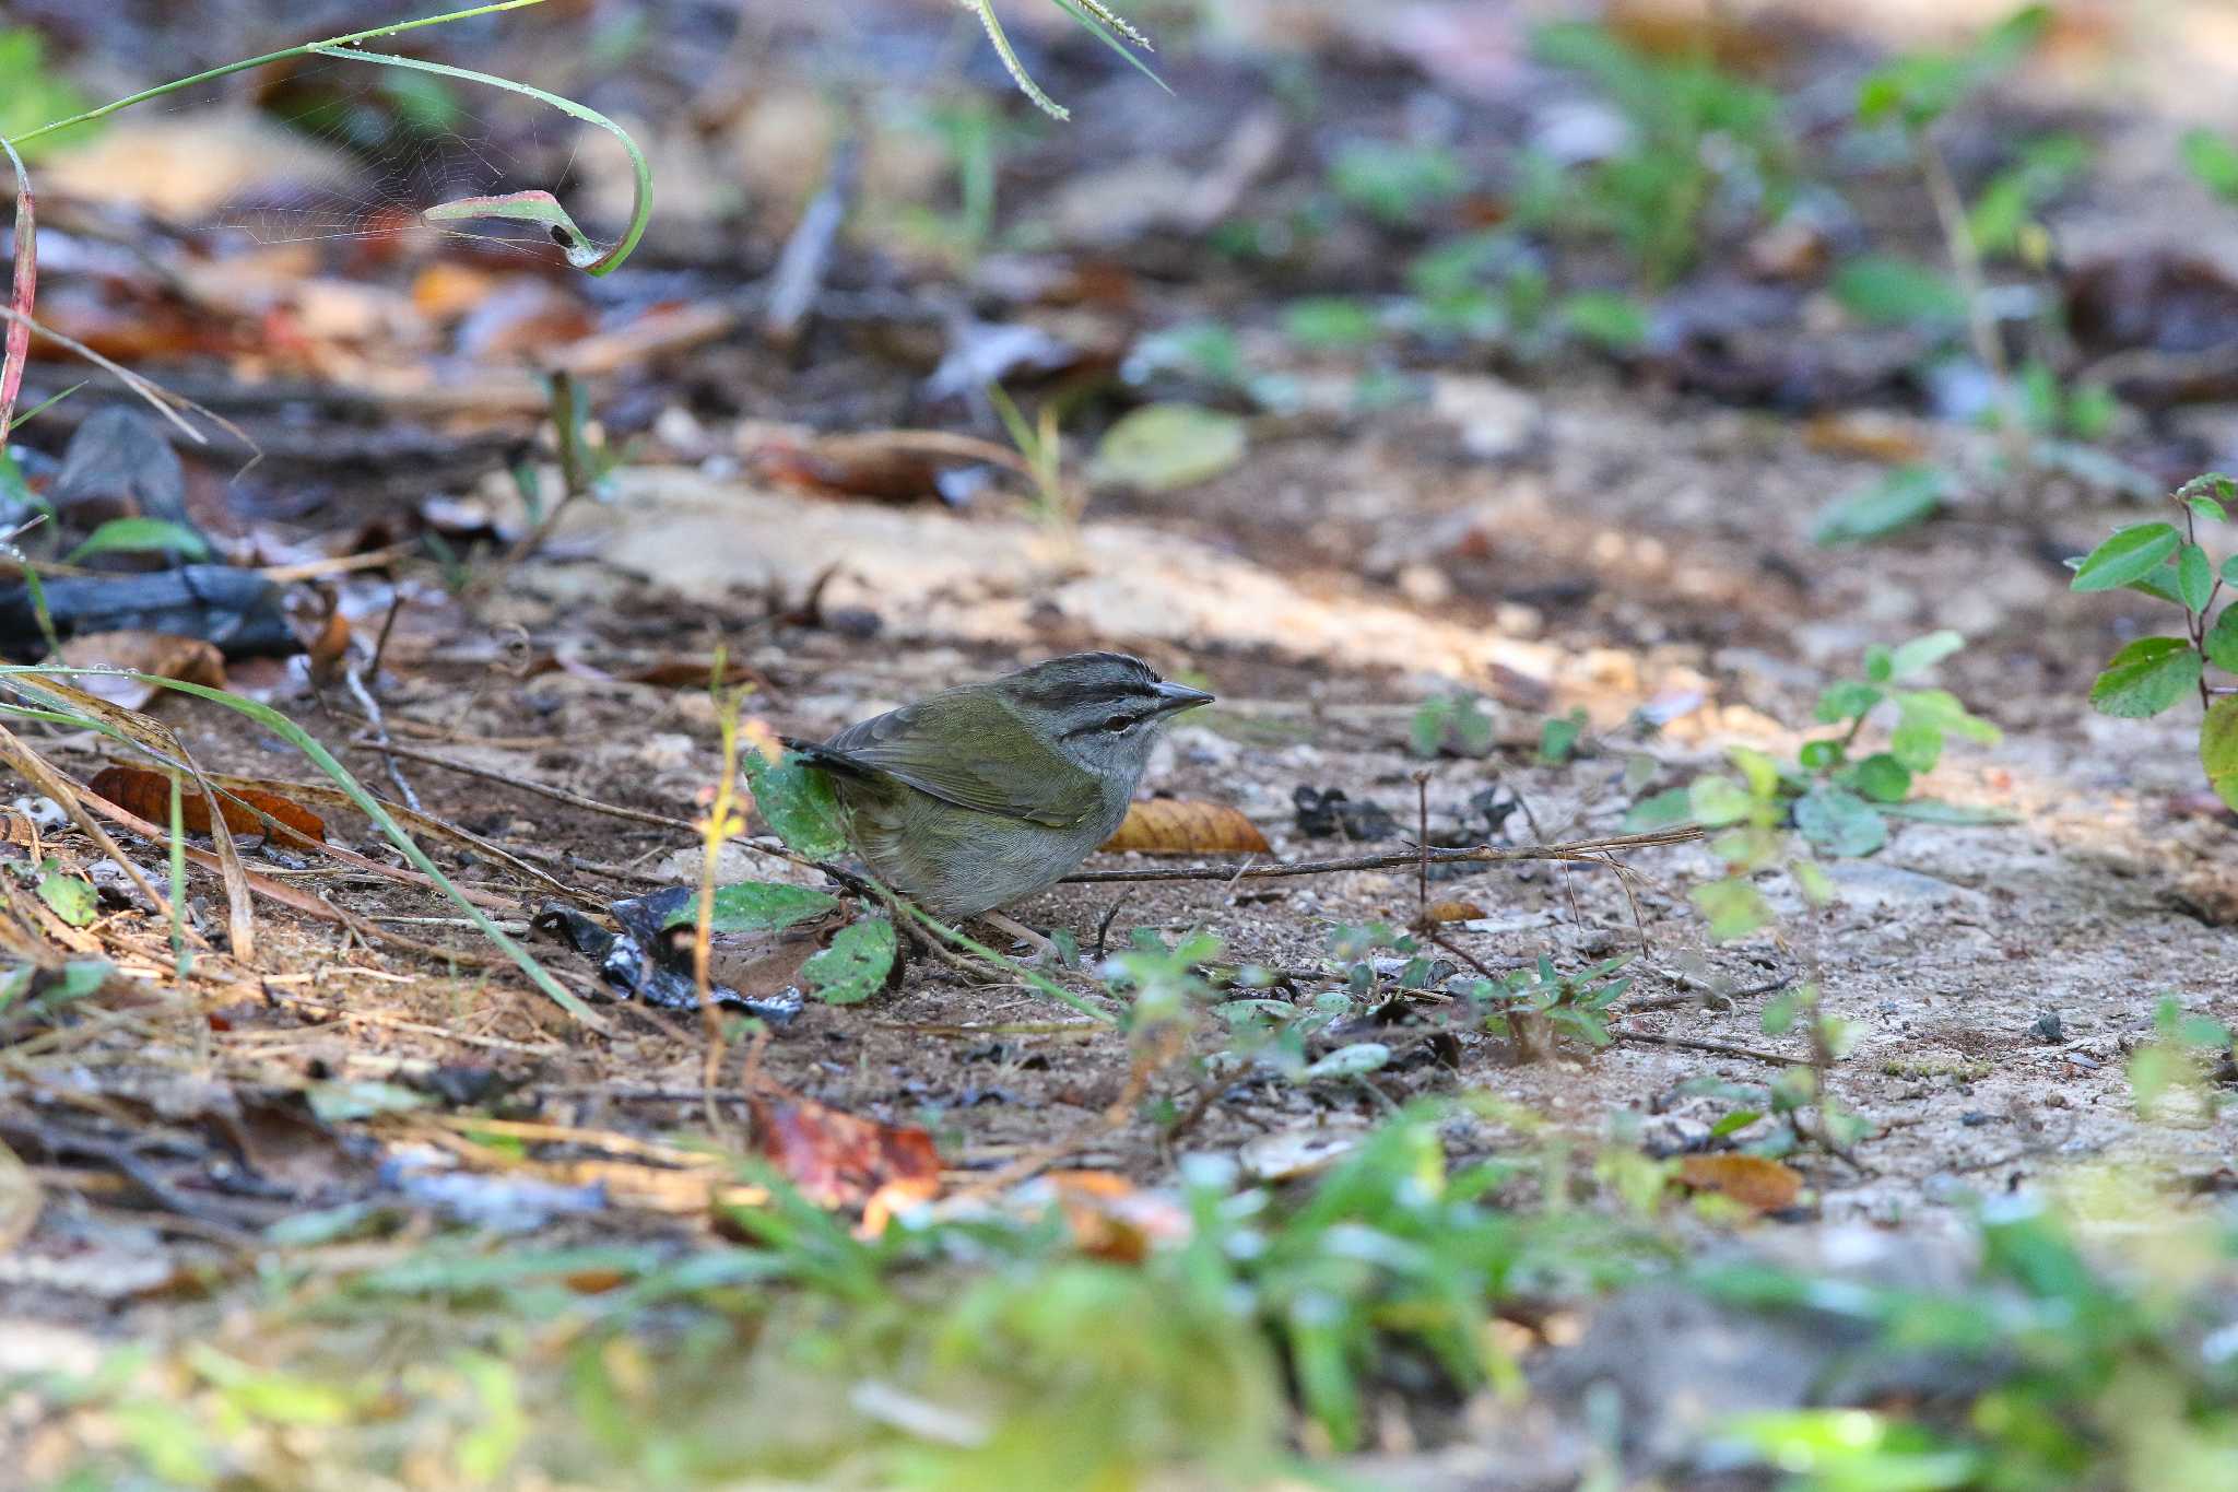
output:
<svg viewBox="0 0 2238 1492"><path fill-rule="evenodd" d="M877 879L938 917L978 917L1110 839L1157 727L1211 698L1126 653L1070 653L786 745L830 774Z"/></svg>

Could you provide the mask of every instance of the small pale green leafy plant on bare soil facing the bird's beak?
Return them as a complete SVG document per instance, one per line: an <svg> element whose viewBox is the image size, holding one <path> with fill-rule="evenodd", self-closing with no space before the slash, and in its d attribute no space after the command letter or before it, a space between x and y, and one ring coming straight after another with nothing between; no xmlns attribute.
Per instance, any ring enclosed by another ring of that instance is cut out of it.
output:
<svg viewBox="0 0 2238 1492"><path fill-rule="evenodd" d="M1918 776L1934 769L1952 738L2001 740L2001 731L1969 714L1949 689L1920 682L1963 646L1958 633L1943 631L1896 649L1866 649L1862 678L1819 693L1815 714L1835 727L1833 734L1806 740L1793 765L1755 747L1732 747L1737 774L1708 772L1632 808L1627 830L1687 819L1719 830L1710 850L1725 861L1725 877L1692 893L1712 937L1743 937L1772 922L1757 888L1759 872L1786 868L1806 901L1824 904L1833 881L1817 857L1873 854L1889 841L1891 819L1994 821L1981 810L1913 796ZM1887 740L1862 749L1866 723L1891 714Z"/></svg>

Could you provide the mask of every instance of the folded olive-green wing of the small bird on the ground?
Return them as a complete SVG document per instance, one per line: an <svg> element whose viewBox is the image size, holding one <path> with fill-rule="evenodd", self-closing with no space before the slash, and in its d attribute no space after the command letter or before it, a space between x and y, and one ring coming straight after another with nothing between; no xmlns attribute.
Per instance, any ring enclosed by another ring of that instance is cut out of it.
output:
<svg viewBox="0 0 2238 1492"><path fill-rule="evenodd" d="M1003 758L987 738L1003 740ZM1097 778L991 700L940 696L846 727L810 761L891 776L922 794L1023 823L1072 828L1103 808Z"/></svg>

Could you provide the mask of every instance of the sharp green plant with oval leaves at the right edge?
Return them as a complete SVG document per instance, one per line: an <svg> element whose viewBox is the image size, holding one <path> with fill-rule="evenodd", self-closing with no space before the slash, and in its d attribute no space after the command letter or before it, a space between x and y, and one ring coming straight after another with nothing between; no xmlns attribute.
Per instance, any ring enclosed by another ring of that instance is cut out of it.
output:
<svg viewBox="0 0 2238 1492"><path fill-rule="evenodd" d="M2200 523L2229 523L2238 481L2193 476L2171 499L2182 523L2155 519L2117 528L2081 559L2070 559L2075 591L2140 591L2184 613L2180 635L2137 638L2090 684L2090 705L2122 718L2157 716L2198 698L2200 767L2216 794L2238 808L2238 684L2209 682L2207 669L2238 673L2238 611L2222 588L2238 584L2238 555L2220 564L2200 544Z"/></svg>

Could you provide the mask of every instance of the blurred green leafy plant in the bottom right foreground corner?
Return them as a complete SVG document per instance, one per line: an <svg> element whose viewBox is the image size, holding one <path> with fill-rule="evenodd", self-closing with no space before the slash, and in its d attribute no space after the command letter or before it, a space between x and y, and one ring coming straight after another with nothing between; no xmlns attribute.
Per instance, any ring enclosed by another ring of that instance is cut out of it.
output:
<svg viewBox="0 0 2238 1492"><path fill-rule="evenodd" d="M1983 1206L1978 1264L1956 1288L1728 1266L1699 1275L1719 1300L1813 1311L1869 1342L1866 1378L1947 1385L1929 1400L1750 1414L1730 1445L1795 1485L1826 1490L2211 1488L2238 1479L2238 1358L2225 1320L2229 1224L2180 1219L2140 1197L2126 1237L2151 1268L2113 1268L2039 1197ZM2227 1329L2225 1329L2227 1331Z"/></svg>

